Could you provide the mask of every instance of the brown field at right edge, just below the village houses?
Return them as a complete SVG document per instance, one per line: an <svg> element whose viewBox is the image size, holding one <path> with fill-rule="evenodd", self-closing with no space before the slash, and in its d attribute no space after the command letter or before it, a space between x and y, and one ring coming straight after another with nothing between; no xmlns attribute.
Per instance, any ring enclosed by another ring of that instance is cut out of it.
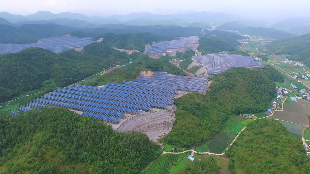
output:
<svg viewBox="0 0 310 174"><path fill-rule="evenodd" d="M293 104L284 103L284 111L310 115L310 103L303 99L297 99Z"/></svg>

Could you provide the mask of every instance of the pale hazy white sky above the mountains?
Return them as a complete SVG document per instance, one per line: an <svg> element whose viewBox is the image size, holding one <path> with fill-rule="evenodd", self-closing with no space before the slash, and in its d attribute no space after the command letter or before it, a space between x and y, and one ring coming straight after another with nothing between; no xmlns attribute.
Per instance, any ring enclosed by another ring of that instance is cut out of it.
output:
<svg viewBox="0 0 310 174"><path fill-rule="evenodd" d="M76 12L85 15L126 15L148 11L175 14L224 11L251 16L309 16L310 0L0 0L0 11L28 15L36 11Z"/></svg>

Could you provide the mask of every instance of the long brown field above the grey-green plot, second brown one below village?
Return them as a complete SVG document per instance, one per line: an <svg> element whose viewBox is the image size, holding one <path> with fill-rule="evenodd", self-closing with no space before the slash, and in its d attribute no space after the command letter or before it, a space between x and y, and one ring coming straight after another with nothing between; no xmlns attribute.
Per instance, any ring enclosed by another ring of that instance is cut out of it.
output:
<svg viewBox="0 0 310 174"><path fill-rule="evenodd" d="M271 118L277 119L277 120L289 121L289 122L297 123L297 124L302 124L305 126L309 124L308 118L306 117L306 115L297 114L293 112L277 111L277 112L274 112Z"/></svg>

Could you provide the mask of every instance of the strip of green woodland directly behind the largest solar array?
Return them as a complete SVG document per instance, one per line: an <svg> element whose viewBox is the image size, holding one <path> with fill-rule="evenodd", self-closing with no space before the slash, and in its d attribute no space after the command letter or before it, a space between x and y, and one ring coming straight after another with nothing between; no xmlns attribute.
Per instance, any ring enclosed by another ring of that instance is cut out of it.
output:
<svg viewBox="0 0 310 174"><path fill-rule="evenodd" d="M141 71L164 71L170 74L185 75L184 72L169 62L170 56L163 56L160 59L152 59L147 54L132 53L130 55L133 63L113 70L100 76L95 82L83 83L84 85L105 85L109 82L122 83L123 81L134 80Z"/></svg>

